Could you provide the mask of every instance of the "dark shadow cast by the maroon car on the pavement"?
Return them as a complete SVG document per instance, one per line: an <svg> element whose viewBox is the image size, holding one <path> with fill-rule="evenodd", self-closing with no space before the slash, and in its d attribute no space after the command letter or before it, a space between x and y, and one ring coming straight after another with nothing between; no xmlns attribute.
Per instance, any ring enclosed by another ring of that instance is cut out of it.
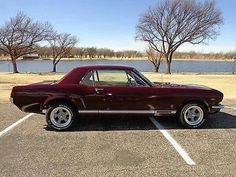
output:
<svg viewBox="0 0 236 177"><path fill-rule="evenodd" d="M163 129L185 129L174 117L158 117L156 120ZM46 130L51 131L49 127ZM236 129L236 116L220 112L208 116L200 129ZM129 130L157 130L148 117L130 116L94 116L80 117L77 125L70 131L129 131ZM191 129L189 129L191 130Z"/></svg>

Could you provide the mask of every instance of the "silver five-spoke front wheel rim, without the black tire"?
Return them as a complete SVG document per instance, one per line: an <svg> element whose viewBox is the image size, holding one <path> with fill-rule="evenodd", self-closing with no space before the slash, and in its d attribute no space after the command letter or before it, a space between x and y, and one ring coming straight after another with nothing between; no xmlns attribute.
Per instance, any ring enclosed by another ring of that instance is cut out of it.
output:
<svg viewBox="0 0 236 177"><path fill-rule="evenodd" d="M204 111L197 105L189 106L183 114L185 122L191 126L200 124L204 119Z"/></svg>

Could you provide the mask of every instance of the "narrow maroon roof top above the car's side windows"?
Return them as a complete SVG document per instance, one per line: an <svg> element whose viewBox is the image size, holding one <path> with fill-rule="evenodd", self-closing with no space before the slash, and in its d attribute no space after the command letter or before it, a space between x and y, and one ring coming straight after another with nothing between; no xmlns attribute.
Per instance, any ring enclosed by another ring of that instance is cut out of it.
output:
<svg viewBox="0 0 236 177"><path fill-rule="evenodd" d="M126 69L126 70L133 70L133 67L124 66L124 65L88 65L88 66L80 66L76 69L83 69L83 70L97 70L97 69Z"/></svg>

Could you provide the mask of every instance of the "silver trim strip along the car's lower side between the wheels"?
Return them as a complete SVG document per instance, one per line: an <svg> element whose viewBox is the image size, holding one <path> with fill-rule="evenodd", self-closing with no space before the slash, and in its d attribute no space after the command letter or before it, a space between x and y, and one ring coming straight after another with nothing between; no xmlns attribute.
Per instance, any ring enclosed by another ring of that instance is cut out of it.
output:
<svg viewBox="0 0 236 177"><path fill-rule="evenodd" d="M81 114L153 114L154 116L175 114L176 110L79 110Z"/></svg>

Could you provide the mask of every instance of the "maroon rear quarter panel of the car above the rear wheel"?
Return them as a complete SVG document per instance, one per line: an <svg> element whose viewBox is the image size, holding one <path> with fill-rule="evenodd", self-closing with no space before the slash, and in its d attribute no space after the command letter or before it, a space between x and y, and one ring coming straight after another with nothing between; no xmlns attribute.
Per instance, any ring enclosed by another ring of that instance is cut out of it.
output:
<svg viewBox="0 0 236 177"><path fill-rule="evenodd" d="M49 102L58 99L72 101L76 107L83 106L76 100L80 99L82 89L77 84L52 84L16 86L12 90L13 103L24 112L42 113Z"/></svg>

